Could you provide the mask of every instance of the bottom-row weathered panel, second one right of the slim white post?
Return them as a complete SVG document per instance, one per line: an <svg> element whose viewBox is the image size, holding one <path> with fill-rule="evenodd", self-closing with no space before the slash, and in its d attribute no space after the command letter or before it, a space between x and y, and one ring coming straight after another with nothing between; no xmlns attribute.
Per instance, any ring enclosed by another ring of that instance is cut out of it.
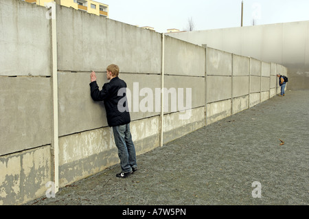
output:
<svg viewBox="0 0 309 219"><path fill-rule="evenodd" d="M231 100L222 100L207 104L207 124L211 124L231 115Z"/></svg>

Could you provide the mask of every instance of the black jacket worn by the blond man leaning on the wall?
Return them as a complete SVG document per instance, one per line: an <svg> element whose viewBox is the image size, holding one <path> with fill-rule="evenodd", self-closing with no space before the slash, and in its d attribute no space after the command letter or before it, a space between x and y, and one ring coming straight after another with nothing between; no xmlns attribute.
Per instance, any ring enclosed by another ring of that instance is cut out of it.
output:
<svg viewBox="0 0 309 219"><path fill-rule="evenodd" d="M119 89L122 90L118 95ZM90 90L92 100L104 101L108 126L121 126L130 123L124 80L118 77L112 78L110 82L103 85L101 91L97 82L94 81L90 83Z"/></svg>

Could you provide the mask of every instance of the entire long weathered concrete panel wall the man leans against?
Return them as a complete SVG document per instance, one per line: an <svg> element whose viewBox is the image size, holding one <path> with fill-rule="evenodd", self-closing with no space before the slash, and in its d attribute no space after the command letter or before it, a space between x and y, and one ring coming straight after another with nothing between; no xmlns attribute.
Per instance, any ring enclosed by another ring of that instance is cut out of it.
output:
<svg viewBox="0 0 309 219"><path fill-rule="evenodd" d="M104 105L90 97L91 70L97 72L101 89L108 82L106 67L119 65L119 78L128 85L137 154L279 91L275 73L285 69L281 65L60 5L54 83L55 26L48 9L17 0L0 3L1 205L44 196L46 183L55 183L55 176L58 187L64 187L119 162ZM53 101L55 89L58 100ZM57 127L53 107L58 108Z"/></svg>

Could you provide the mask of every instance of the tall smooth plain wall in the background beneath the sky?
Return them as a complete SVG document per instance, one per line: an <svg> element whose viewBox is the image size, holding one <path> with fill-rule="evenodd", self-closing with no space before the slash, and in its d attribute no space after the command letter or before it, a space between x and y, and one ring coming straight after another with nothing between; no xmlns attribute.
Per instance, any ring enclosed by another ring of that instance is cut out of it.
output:
<svg viewBox="0 0 309 219"><path fill-rule="evenodd" d="M309 89L309 21L170 33L196 45L288 68L288 89ZM284 73L283 71L278 71Z"/></svg>

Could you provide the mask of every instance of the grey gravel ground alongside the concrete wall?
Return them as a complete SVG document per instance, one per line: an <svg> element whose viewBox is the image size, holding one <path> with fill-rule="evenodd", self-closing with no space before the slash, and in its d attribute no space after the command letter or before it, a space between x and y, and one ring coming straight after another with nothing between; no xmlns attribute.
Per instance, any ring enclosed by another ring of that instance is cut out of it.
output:
<svg viewBox="0 0 309 219"><path fill-rule="evenodd" d="M308 108L287 91L137 156L128 178L114 165L25 205L308 205Z"/></svg>

